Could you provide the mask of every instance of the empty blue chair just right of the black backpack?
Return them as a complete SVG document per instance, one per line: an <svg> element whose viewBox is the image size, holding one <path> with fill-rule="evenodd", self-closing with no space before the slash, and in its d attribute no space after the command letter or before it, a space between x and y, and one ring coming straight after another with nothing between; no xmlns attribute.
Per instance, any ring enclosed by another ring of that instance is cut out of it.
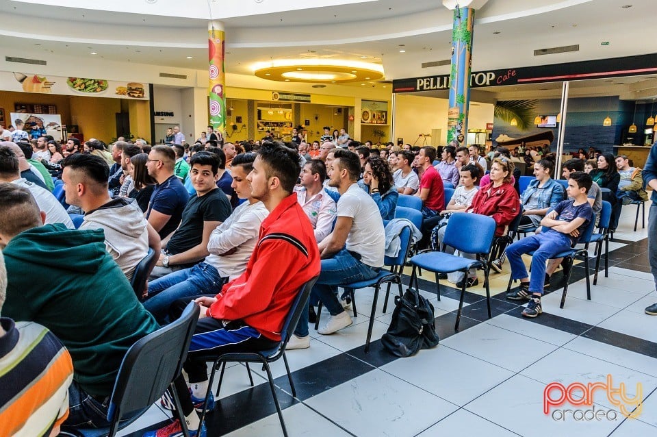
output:
<svg viewBox="0 0 657 437"><path fill-rule="evenodd" d="M466 212L452 214L450 220L447 222L443 243L465 253L476 253L477 259L469 260L444 252L420 253L420 255L415 255L411 258L413 272L411 273L409 286L413 286L413 281L415 281L415 289L420 290L420 286L417 284L416 273L418 267L434 272L436 273L436 292L438 297L440 297L438 273L462 271L465 273L465 278L467 278L469 269L482 269L485 275L484 285L488 302L488 317L490 319L493 315L491 313L491 290L488 281L490 273L488 257L493 246L494 235L495 220L492 217ZM476 236L476 238L472 238L472 236ZM456 324L454 325L454 330L456 331L459 330L459 322L461 322L461 311L463 310L463 299L465 298L465 284L467 282L465 278L461 286L459 312L456 314Z"/></svg>

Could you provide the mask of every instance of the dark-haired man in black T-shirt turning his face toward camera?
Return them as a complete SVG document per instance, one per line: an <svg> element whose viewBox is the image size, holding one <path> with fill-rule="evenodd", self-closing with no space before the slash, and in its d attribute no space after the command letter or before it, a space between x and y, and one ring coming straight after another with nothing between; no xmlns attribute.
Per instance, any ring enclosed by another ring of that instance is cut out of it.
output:
<svg viewBox="0 0 657 437"><path fill-rule="evenodd" d="M195 153L190 159L190 179L196 195L185 205L178 229L162 241L164 252L151 278L192 267L207 255L207 242L218 225L231 215L231 205L217 188L219 160L214 153Z"/></svg>

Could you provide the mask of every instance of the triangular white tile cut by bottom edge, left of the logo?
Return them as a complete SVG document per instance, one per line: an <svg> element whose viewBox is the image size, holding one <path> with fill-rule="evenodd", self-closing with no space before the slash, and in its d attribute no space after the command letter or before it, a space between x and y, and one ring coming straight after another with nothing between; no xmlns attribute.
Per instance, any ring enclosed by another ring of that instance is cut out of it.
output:
<svg viewBox="0 0 657 437"><path fill-rule="evenodd" d="M517 434L466 410L458 410L417 437L486 436L511 437Z"/></svg>

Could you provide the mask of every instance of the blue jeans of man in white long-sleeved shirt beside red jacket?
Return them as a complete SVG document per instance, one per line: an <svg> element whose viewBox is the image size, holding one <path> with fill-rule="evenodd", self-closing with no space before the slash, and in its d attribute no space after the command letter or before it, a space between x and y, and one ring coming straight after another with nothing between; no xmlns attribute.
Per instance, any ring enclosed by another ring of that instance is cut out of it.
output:
<svg viewBox="0 0 657 437"><path fill-rule="evenodd" d="M216 295L224 282L225 278L219 275L217 269L201 262L190 269L170 273L149 283L149 295L144 308L161 321L173 301L196 295Z"/></svg>

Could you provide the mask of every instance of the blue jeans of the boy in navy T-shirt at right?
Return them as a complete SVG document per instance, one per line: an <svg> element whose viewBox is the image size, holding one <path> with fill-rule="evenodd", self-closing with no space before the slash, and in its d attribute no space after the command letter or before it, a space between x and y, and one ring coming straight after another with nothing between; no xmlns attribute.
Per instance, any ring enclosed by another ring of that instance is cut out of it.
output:
<svg viewBox="0 0 657 437"><path fill-rule="evenodd" d="M541 232L514 242L506 248L506 258L511 264L511 279L525 279L529 276L521 255L534 251L529 291L542 295L545 285L545 262L570 247L570 237L556 231Z"/></svg>

